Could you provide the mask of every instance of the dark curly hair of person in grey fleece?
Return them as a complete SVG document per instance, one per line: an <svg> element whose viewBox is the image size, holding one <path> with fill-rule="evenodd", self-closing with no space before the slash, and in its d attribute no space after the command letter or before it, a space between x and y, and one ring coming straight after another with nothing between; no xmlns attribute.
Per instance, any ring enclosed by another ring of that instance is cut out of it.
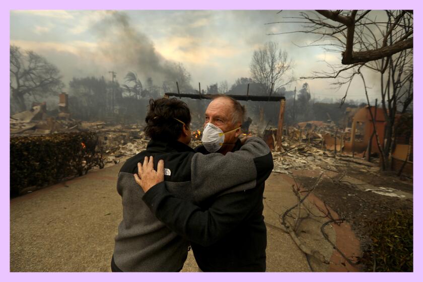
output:
<svg viewBox="0 0 423 282"><path fill-rule="evenodd" d="M176 141L182 133L183 124L175 118L189 127L191 112L185 102L176 98L150 99L144 132L152 140Z"/></svg>

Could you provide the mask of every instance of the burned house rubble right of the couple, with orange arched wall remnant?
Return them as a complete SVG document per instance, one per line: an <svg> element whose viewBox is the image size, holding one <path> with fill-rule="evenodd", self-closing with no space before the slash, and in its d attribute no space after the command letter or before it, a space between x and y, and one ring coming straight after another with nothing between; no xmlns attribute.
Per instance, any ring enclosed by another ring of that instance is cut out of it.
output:
<svg viewBox="0 0 423 282"><path fill-rule="evenodd" d="M379 144L383 144L385 119L382 109L375 111L371 107L371 111L376 117ZM398 115L397 123L400 118ZM276 129L265 129L261 134L275 157L275 169L304 168L307 164L313 167L318 160L335 162L332 165L336 166L336 162L342 159L379 169L380 151L369 108L347 108L343 121L345 123L340 126L332 120L287 125L283 129L280 148L276 144ZM412 176L412 165L412 129L397 130L391 169Z"/></svg>

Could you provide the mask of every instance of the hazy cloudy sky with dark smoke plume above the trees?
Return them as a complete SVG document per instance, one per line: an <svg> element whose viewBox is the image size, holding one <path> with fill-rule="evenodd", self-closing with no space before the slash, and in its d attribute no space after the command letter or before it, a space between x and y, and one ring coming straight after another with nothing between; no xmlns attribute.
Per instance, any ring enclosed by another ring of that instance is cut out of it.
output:
<svg viewBox="0 0 423 282"><path fill-rule="evenodd" d="M11 44L33 50L55 64L63 82L73 77L104 76L117 73L123 84L133 71L145 82L152 77L176 78L174 63L182 63L191 74L194 89L237 78L250 77L253 51L266 41L275 41L295 62L288 75L311 76L326 69L326 60L340 63L340 53L325 53L321 47L300 48L315 38L293 33L301 24L266 24L298 16L300 11L11 11ZM295 44L294 44L295 43ZM379 96L379 80L366 73L372 99ZM344 89L330 89L333 80L303 80L287 90L309 83L313 97L339 99ZM351 84L348 98L363 99L362 81Z"/></svg>

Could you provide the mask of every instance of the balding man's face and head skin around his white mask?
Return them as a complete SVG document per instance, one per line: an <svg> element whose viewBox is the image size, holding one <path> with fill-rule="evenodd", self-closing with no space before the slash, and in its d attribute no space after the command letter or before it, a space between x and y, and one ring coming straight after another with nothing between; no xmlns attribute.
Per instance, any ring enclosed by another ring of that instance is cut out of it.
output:
<svg viewBox="0 0 423 282"><path fill-rule="evenodd" d="M232 124L232 112L234 107L232 105L232 101L224 98L219 97L210 102L208 104L207 109L205 110L205 120L204 126L206 123L210 122L222 129L223 132L230 131L239 125ZM238 132L239 131L239 132ZM240 129L229 132L225 134L225 143L235 143L236 138L240 134Z"/></svg>

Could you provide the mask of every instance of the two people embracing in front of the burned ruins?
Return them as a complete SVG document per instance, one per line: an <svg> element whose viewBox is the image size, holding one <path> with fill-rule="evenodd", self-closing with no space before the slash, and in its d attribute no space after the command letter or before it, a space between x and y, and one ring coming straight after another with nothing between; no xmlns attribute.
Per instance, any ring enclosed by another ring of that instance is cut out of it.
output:
<svg viewBox="0 0 423 282"><path fill-rule="evenodd" d="M264 181L272 155L259 137L240 139L245 108L216 95L192 149L181 100L150 101L147 149L122 166L123 219L112 271L180 271L191 246L200 271L265 271Z"/></svg>

